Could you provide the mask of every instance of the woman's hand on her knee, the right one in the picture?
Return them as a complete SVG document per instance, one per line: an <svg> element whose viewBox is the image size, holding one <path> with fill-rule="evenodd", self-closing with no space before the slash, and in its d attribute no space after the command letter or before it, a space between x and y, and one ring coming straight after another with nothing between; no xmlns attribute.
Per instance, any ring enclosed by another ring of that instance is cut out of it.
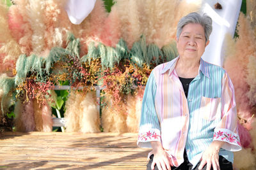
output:
<svg viewBox="0 0 256 170"><path fill-rule="evenodd" d="M210 170L211 166L213 170L220 170L219 152L224 143L223 141L212 141L211 145L202 155L202 161L198 167L199 170L202 170L205 164L207 164L206 170Z"/></svg>

